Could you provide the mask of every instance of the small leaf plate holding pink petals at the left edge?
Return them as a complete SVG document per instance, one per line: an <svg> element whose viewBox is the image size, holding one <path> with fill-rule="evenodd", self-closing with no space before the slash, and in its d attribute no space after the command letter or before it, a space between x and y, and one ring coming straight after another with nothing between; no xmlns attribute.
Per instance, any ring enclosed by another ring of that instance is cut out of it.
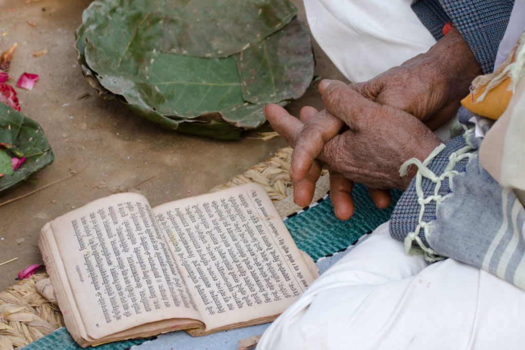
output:
<svg viewBox="0 0 525 350"><path fill-rule="evenodd" d="M0 194L53 163L55 158L40 125L5 103L0 103L0 142L9 144L17 156L27 157L12 175L0 177Z"/></svg>

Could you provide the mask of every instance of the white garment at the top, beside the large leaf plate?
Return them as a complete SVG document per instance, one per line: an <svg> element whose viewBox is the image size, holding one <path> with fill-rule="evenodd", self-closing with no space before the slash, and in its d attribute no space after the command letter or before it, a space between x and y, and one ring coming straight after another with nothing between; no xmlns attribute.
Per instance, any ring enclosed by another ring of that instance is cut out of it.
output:
<svg viewBox="0 0 525 350"><path fill-rule="evenodd" d="M351 82L369 80L436 43L412 0L304 0L313 37Z"/></svg>

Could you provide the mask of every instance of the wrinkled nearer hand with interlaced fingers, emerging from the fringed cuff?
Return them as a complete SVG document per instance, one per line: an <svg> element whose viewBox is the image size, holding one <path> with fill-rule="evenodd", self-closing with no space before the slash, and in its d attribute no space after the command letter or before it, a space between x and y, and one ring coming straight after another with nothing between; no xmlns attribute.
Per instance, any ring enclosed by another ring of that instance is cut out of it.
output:
<svg viewBox="0 0 525 350"><path fill-rule="evenodd" d="M276 104L267 105L265 114L294 148L290 176L296 203L310 203L321 161L330 170L335 214L348 219L353 214L353 181L370 188L406 188L415 169L401 177L401 164L412 157L424 160L440 141L413 115L371 101L352 86L325 80L320 90L332 114L306 107L298 120ZM339 134L344 124L349 130ZM390 201L384 192L371 194L380 207Z"/></svg>

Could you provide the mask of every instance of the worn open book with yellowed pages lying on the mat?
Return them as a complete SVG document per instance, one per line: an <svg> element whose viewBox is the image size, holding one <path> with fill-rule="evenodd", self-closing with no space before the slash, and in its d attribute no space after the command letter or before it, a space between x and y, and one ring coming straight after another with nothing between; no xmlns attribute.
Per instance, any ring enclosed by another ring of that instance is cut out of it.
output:
<svg viewBox="0 0 525 350"><path fill-rule="evenodd" d="M134 193L97 199L48 222L39 247L83 347L269 322L317 277L257 184L154 208Z"/></svg>

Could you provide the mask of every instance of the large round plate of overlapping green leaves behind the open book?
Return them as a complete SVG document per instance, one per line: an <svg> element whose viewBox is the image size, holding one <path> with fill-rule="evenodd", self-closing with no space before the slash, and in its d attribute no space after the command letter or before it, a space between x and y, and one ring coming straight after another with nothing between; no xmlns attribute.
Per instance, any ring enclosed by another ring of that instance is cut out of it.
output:
<svg viewBox="0 0 525 350"><path fill-rule="evenodd" d="M262 107L266 102L291 100L306 91L313 76L313 56L310 37L299 19L285 26L296 11L289 0L237 1L237 7L232 4L233 0L95 1L83 13L76 33L83 73L104 98L116 96L135 113L164 128L237 139L241 129L257 128L265 122ZM250 22L257 17L255 13L265 18L264 25L258 19ZM228 27L225 24L232 21L245 23L243 31L237 33L243 38L239 41L243 46L235 50L246 47L246 38L257 39L248 39L252 40L248 49L228 57L163 52L163 45L171 42L167 36L175 33L175 22L169 18L184 18L186 22L180 23L187 25L191 18L206 19L203 23L195 20L199 23L191 28L181 24L173 37L176 43L191 44L192 40L179 40L183 33L194 38L201 35L205 40L193 43L198 49L203 45L229 47L232 40L219 40L214 35L219 33L217 25ZM197 35L194 31L198 30L202 33ZM279 49L283 43L295 49ZM265 47L263 58L258 45ZM245 52L253 59L239 63L239 55ZM257 75L250 72L254 62L261 66ZM268 79L276 74L289 74L291 79ZM260 97L254 97L259 93Z"/></svg>

